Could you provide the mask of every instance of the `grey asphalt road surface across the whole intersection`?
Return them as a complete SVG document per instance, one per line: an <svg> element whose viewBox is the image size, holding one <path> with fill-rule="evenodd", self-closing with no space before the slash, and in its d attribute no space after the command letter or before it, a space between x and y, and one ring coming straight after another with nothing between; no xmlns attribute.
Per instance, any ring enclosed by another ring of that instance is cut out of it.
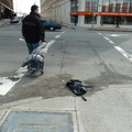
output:
<svg viewBox="0 0 132 132"><path fill-rule="evenodd" d="M66 32L55 38L63 31ZM0 28L1 77L12 76L28 56L25 43L20 42L19 37L21 24ZM36 77L25 74L6 96L0 96L0 103L40 96L45 99L74 96L65 87L70 78L94 85L90 94L112 84L132 84L131 59L114 47L121 47L131 57L132 33L63 28L56 32L46 31L46 41L51 40L56 42L45 56L44 75ZM110 43L111 41L114 44Z"/></svg>

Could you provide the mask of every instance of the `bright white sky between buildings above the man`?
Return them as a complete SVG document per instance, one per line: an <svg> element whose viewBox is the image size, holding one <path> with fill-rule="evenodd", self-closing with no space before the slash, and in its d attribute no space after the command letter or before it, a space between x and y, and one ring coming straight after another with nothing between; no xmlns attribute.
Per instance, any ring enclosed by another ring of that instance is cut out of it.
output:
<svg viewBox="0 0 132 132"><path fill-rule="evenodd" d="M40 7L40 0L13 0L14 12L30 13L34 3Z"/></svg>

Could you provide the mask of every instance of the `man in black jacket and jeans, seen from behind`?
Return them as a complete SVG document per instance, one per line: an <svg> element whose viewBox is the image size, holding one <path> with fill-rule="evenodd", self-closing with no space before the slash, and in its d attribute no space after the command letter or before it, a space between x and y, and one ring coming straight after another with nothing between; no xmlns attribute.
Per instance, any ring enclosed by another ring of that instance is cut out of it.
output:
<svg viewBox="0 0 132 132"><path fill-rule="evenodd" d="M38 7L35 4L31 7L31 13L22 21L22 35L25 38L29 54L32 54L33 50L38 47L40 41L45 41L44 26L38 15Z"/></svg>

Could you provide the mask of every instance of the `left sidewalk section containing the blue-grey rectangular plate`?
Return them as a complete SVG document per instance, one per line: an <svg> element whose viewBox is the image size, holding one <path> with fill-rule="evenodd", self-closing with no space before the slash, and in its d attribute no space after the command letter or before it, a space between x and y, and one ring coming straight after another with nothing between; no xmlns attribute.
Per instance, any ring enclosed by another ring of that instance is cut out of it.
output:
<svg viewBox="0 0 132 132"><path fill-rule="evenodd" d="M11 117L16 120L14 121ZM15 123L12 124L12 120ZM21 131L37 130L40 132L47 130L62 132L65 128L66 132L79 132L75 111L75 98L42 99L23 102L23 105L18 102L14 107L10 107L10 112L4 116L0 130L4 132L8 129L12 132L20 128Z"/></svg>

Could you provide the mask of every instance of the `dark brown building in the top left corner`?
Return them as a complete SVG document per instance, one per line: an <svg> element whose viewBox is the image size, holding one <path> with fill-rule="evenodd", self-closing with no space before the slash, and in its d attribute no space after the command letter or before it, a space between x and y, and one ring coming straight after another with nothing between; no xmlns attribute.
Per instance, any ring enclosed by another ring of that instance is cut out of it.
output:
<svg viewBox="0 0 132 132"><path fill-rule="evenodd" d="M11 18L13 13L13 0L0 0L0 19Z"/></svg>

